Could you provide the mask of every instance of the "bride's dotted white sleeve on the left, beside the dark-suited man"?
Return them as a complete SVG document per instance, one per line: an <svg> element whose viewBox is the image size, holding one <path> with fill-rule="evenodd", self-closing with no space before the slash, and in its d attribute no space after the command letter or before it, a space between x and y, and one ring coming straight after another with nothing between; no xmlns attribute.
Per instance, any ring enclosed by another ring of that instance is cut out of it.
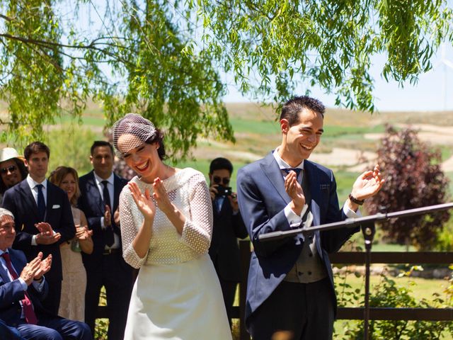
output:
<svg viewBox="0 0 453 340"><path fill-rule="evenodd" d="M144 258L140 258L132 246L137 236L137 229L140 226L135 225L134 217L132 215L131 206L135 204L129 188L125 186L120 194L120 225L121 225L121 239L122 239L122 257L126 263L134 268L140 268L147 260L148 253Z"/></svg>

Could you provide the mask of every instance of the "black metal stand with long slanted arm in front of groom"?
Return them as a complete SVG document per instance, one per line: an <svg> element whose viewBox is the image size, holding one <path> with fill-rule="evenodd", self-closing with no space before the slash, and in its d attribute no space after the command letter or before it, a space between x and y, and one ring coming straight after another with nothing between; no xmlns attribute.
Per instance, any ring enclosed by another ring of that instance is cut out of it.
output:
<svg viewBox="0 0 453 340"><path fill-rule="evenodd" d="M275 239L285 239L287 237L293 237L297 234L310 234L316 231L326 231L332 229L339 229L344 227L362 227L362 233L365 238L365 328L364 338L369 339L368 327L369 327L369 266L371 263L371 248L374 237L374 223L381 220L389 220L390 218L398 217L409 217L415 215L423 215L429 212L435 212L440 210L448 210L453 208L453 203L444 203L438 205L429 205L427 207L415 208L409 210L401 210L397 212L386 212L378 213L376 215L369 215L365 217L347 218L344 221L328 223L326 225L316 225L312 227L302 227L297 229L285 230L282 232L269 232L268 234L260 234L258 239L260 242L273 241Z"/></svg>

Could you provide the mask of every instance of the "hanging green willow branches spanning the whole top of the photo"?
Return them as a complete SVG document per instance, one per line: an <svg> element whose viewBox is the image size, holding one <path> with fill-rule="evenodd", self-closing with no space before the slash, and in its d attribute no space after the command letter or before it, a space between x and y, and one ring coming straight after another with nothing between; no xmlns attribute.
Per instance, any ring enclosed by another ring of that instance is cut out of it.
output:
<svg viewBox="0 0 453 340"><path fill-rule="evenodd" d="M62 7L0 2L4 140L43 139L43 126L63 112L79 120L95 98L105 128L124 113L142 113L167 131L173 157L185 157L198 137L234 140L220 72L260 101L282 103L310 84L336 94L338 106L374 111L373 55L388 55L384 79L414 84L440 42L453 41L451 4L441 0L79 0L74 11ZM83 20L84 11L96 18Z"/></svg>

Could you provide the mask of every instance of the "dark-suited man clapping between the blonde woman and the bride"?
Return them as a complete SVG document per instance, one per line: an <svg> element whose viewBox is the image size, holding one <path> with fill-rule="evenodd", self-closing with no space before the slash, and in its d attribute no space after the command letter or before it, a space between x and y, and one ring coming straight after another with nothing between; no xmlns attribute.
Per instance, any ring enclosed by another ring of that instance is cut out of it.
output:
<svg viewBox="0 0 453 340"><path fill-rule="evenodd" d="M108 339L122 340L132 292L132 267L122 259L118 204L127 181L113 173L113 147L95 141L90 161L93 171L81 176L79 208L93 230L93 254L82 253L86 268L85 322L94 331L99 293L105 286L109 319Z"/></svg>

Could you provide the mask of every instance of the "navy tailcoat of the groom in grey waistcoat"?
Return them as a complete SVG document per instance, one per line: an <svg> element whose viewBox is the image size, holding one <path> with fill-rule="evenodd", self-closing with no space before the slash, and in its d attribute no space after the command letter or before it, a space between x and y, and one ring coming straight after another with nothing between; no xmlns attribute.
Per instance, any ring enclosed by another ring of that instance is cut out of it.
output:
<svg viewBox="0 0 453 340"><path fill-rule="evenodd" d="M304 176L311 193L309 208L314 216L313 224L323 225L344 220L346 216L338 208L336 181L332 171L305 160ZM285 192L285 180L272 152L239 169L237 185L241 215L254 249L248 272L247 322L248 317L273 293L294 266L304 244L302 234L270 242L258 240L260 234L291 229L284 212L291 199ZM333 273L328 254L338 251L350 235L357 231L358 228L336 229L321 232L317 237L316 246L326 266L332 290Z"/></svg>

